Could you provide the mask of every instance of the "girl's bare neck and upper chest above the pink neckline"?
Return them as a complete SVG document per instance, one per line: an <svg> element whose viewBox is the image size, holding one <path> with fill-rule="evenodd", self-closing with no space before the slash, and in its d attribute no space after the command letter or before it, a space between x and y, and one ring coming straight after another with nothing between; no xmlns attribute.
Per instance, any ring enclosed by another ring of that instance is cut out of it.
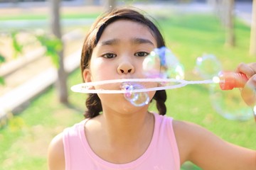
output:
<svg viewBox="0 0 256 170"><path fill-rule="evenodd" d="M92 150L102 159L118 164L140 157L149 147L154 132L154 115L147 108L142 110L125 114L103 108L102 115L85 124Z"/></svg>

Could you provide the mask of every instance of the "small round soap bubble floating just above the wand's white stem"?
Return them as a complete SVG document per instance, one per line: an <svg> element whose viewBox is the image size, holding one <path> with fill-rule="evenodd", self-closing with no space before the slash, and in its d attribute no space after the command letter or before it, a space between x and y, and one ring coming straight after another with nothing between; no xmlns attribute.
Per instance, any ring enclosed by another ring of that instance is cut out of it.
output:
<svg viewBox="0 0 256 170"><path fill-rule="evenodd" d="M203 55L196 59L196 72L198 72L203 79L212 79L218 76L221 70L222 66L215 55Z"/></svg>

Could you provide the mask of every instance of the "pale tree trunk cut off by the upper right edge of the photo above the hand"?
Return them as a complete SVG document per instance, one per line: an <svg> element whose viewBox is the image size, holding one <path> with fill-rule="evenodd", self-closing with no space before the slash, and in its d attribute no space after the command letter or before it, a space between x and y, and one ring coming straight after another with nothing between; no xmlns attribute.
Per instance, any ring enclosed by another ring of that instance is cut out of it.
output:
<svg viewBox="0 0 256 170"><path fill-rule="evenodd" d="M252 1L252 25L250 30L250 55L256 55L256 0Z"/></svg>

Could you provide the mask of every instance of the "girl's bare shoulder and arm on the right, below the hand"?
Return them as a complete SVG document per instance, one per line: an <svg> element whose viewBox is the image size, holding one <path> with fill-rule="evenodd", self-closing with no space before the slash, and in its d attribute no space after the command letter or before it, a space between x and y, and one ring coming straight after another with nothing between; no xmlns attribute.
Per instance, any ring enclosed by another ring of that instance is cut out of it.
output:
<svg viewBox="0 0 256 170"><path fill-rule="evenodd" d="M256 169L254 150L225 142L194 123L173 124L181 163L191 161L202 169Z"/></svg>

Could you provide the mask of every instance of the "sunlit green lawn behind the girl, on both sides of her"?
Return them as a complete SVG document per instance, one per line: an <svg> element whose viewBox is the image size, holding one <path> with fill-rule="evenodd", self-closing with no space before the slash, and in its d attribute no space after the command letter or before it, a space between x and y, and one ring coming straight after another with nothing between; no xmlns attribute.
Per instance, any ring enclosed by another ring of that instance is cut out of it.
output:
<svg viewBox="0 0 256 170"><path fill-rule="evenodd" d="M196 57L203 53L216 55L225 69L235 69L239 62L252 62L248 45L250 28L236 21L237 47L225 47L224 31L213 16L175 16L159 21L166 43L186 68L187 79L194 79ZM68 86L80 83L80 72L70 75ZM82 120L85 95L70 92L67 107L58 103L56 91L31 101L29 107L9 120L0 130L1 169L47 169L46 154L50 140L65 127ZM253 120L245 122L226 120L216 113L210 103L207 85L190 85L168 91L168 115L178 120L197 123L236 145L256 149ZM232 106L231 106L232 107ZM154 110L154 106L151 107ZM185 169L199 169L186 164Z"/></svg>

